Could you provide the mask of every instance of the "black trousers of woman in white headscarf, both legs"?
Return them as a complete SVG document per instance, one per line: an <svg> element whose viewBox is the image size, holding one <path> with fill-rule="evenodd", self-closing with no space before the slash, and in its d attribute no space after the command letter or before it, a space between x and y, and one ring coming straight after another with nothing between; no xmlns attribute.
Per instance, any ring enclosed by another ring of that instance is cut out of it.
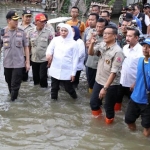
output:
<svg viewBox="0 0 150 150"><path fill-rule="evenodd" d="M69 93L69 95L76 99L77 94L75 89L73 88L72 82L70 80L58 80L53 77L51 77L51 98L57 99L58 98L58 91L59 91L59 84L63 83L65 91Z"/></svg>

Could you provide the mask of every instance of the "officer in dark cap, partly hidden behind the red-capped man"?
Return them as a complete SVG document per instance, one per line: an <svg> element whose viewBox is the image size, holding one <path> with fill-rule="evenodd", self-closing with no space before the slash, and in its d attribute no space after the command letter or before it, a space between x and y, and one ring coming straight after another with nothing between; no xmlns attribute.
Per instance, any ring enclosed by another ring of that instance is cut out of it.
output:
<svg viewBox="0 0 150 150"><path fill-rule="evenodd" d="M31 19L32 19L32 12L30 10L23 10L22 21L18 23L18 27L21 28L22 30L24 30L27 35L35 28L35 25L33 23L31 23ZM26 59L26 57L25 57L25 59ZM28 72L26 71L25 67L23 69L22 80L23 81L28 80Z"/></svg>

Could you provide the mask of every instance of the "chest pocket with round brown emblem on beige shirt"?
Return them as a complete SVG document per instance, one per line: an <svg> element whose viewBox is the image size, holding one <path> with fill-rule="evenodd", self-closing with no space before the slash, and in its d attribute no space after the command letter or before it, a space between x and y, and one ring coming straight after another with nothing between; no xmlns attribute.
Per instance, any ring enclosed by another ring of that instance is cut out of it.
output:
<svg viewBox="0 0 150 150"><path fill-rule="evenodd" d="M112 56L106 55L104 57L104 70L110 71L112 66Z"/></svg>

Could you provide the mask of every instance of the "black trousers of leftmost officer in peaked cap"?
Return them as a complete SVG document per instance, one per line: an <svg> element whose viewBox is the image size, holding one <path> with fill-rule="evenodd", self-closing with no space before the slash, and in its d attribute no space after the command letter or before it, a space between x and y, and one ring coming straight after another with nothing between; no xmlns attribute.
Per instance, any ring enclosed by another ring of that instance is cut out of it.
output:
<svg viewBox="0 0 150 150"><path fill-rule="evenodd" d="M17 99L22 81L23 68L4 68L5 81L11 94L11 100Z"/></svg>

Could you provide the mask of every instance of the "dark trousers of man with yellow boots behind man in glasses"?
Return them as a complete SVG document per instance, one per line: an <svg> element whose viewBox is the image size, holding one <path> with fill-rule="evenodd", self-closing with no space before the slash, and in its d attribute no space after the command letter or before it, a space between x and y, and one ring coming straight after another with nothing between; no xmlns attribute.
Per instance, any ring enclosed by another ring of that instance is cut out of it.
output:
<svg viewBox="0 0 150 150"><path fill-rule="evenodd" d="M86 76L87 76L87 81L90 89L93 89L95 83L96 71L97 69L86 67Z"/></svg>

